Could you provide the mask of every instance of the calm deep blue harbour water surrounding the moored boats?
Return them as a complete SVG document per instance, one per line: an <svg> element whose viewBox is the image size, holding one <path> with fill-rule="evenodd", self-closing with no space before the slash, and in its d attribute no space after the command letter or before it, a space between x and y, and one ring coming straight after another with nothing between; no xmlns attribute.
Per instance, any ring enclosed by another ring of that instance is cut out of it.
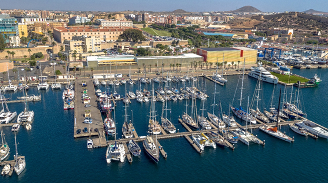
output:
<svg viewBox="0 0 328 183"><path fill-rule="evenodd" d="M302 89L302 109L307 112L308 118L323 126L328 127L325 115L327 103L326 91L328 89L328 74L326 69L297 70L293 72L307 78L314 73L321 75L322 83L316 88ZM201 82L203 81L203 82ZM198 88L205 85L205 80L198 83ZM236 90L238 76L228 76L226 86L217 85L216 103L221 101L223 111L228 113L229 103L233 101ZM176 85L182 87L182 84ZM190 84L187 82L187 84ZM158 84L155 84L155 88ZM247 99L252 100L256 80L245 76L242 106L247 108ZM145 87L141 84L141 88ZM151 86L147 86L151 89ZM262 101L259 101L261 109L268 108L273 85L263 83L261 91ZM139 85L130 87L127 90L139 88ZM240 98L240 86L236 92L233 105L238 106ZM278 92L282 85L275 87L275 101L277 106ZM105 88L101 87L104 91ZM124 94L124 85L110 88ZM291 87L288 87L290 93ZM214 83L206 81L206 93L210 97L205 101L205 113L213 111ZM294 88L295 91L295 88ZM36 88L31 88L29 94L38 93ZM64 111L62 109L62 91L41 91L42 101L29 103L31 110L35 112L35 120L32 124L31 132L20 129L17 133L19 142L18 151L26 157L26 170L17 177L1 177L0 182L95 182L95 181L116 181L116 182L327 182L327 140L319 138L315 140L311 137L303 137L295 134L287 126L282 126L281 131L287 135L295 137L295 143L286 143L282 140L271 137L259 130L253 133L266 141L265 147L259 145L246 146L241 142L236 145L235 151L228 148L206 149L199 155L184 138L173 138L160 140L168 154L167 160L160 159L155 164L144 153L133 158L133 163L127 162L111 164L106 163L106 148L87 150L86 138L73 138L74 111ZM16 99L22 95L21 92L6 93L6 98ZM288 95L289 97L289 95ZM288 99L289 100L289 99ZM294 100L294 99L293 99ZM202 103L197 101L197 110L200 112ZM177 118L186 110L186 101L169 101L168 108L172 112L169 118L175 123L180 132L185 131L178 124ZM191 102L189 102L189 105ZM23 103L8 104L10 110L20 113ZM159 116L162 113L163 103L156 102L156 110ZM150 109L149 103L138 103L132 101L128 107L128 114L131 119L133 110L133 123L139 136L146 135L148 117ZM190 108L188 109L190 112ZM215 113L219 111L219 106L215 106ZM124 105L117 102L116 121L118 123L118 137L121 137L121 125L123 124ZM6 140L11 148L10 159L14 154L14 134L10 127L4 127ZM141 143L139 143L142 146Z"/></svg>

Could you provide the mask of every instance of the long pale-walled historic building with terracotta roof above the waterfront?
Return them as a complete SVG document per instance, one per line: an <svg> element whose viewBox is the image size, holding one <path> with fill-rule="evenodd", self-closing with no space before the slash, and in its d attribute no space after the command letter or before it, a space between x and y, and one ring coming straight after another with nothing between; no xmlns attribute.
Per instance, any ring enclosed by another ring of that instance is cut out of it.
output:
<svg viewBox="0 0 328 183"><path fill-rule="evenodd" d="M131 27L56 27L53 29L53 38L60 43L72 40L73 36L99 36L101 42L115 42L124 30Z"/></svg>

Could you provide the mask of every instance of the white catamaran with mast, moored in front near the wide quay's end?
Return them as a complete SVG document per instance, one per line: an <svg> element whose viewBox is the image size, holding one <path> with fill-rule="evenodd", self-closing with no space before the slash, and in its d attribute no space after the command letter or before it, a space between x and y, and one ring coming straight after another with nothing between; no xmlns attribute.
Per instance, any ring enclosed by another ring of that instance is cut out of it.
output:
<svg viewBox="0 0 328 183"><path fill-rule="evenodd" d="M114 119L115 119L115 110L114 110ZM125 148L123 144L117 144L116 141L116 125L114 127L114 136L115 143L109 144L106 151L106 161L110 163L112 160L124 162L125 160Z"/></svg>

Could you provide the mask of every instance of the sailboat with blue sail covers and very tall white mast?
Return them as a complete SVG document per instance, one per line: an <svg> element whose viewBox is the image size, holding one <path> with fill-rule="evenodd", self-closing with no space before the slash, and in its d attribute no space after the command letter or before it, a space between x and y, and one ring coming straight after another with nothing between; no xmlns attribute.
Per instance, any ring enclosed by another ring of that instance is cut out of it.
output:
<svg viewBox="0 0 328 183"><path fill-rule="evenodd" d="M256 124L256 120L254 119L254 117L251 114L247 113L241 107L241 101L242 101L242 96L243 96L244 73L245 73L245 60L246 59L244 59L244 67L243 67L243 74L242 74L242 80L241 80L241 91L240 91L240 99L239 99L240 100L240 104L239 104L239 107L233 107L233 106L231 106L231 110L241 120L249 121L250 123Z"/></svg>

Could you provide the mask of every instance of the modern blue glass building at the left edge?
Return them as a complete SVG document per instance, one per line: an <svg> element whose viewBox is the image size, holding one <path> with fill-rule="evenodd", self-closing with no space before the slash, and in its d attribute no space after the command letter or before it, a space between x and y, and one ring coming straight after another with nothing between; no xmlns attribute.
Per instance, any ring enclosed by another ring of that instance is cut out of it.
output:
<svg viewBox="0 0 328 183"><path fill-rule="evenodd" d="M10 37L19 36L17 20L9 15L0 15L0 33L6 43L10 43Z"/></svg>

